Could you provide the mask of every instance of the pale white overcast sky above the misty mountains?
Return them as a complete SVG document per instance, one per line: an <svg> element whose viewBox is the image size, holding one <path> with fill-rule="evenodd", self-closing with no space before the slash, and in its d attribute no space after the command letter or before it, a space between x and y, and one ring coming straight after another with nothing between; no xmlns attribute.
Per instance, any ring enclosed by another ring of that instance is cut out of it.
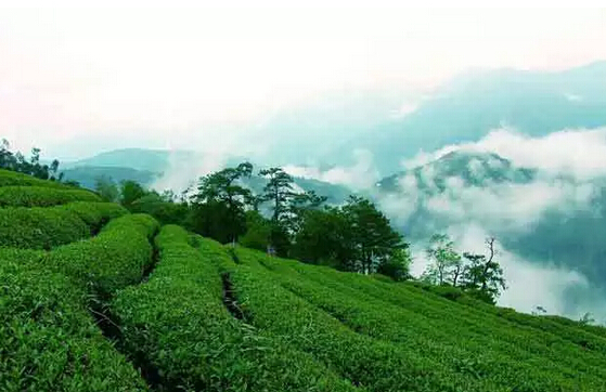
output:
<svg viewBox="0 0 606 392"><path fill-rule="evenodd" d="M606 58L606 9L280 3L2 4L0 136L61 158L88 154L91 143L227 147L281 107L328 90L424 91L470 67L562 69Z"/></svg>

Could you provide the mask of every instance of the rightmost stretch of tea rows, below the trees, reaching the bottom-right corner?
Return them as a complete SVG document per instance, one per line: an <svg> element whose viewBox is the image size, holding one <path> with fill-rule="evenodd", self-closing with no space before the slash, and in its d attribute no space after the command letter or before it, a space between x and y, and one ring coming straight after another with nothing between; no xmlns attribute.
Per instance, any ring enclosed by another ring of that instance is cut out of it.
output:
<svg viewBox="0 0 606 392"><path fill-rule="evenodd" d="M439 308L420 299L413 300L421 303L417 309L410 309L410 301L402 303L402 308L389 304L386 299L395 298L397 285L365 276L267 258L247 250L238 250L237 256L248 263L260 261L274 272L272 280L351 329L403 344L402 350L431 358L452 375L485 379L514 390L595 391L605 387L604 354L596 355L557 336L503 325L490 314L476 323L466 306L446 300L436 303ZM378 292L372 287L374 284L389 289ZM373 290L376 296L371 296Z"/></svg>

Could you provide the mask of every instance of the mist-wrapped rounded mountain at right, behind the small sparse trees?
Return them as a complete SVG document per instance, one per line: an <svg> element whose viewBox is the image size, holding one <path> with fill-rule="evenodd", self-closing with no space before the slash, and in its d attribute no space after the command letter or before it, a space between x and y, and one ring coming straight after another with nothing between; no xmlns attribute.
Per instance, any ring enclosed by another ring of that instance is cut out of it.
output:
<svg viewBox="0 0 606 392"><path fill-rule="evenodd" d="M412 240L477 225L519 257L606 285L606 179L518 168L497 154L453 152L376 184L375 198Z"/></svg>

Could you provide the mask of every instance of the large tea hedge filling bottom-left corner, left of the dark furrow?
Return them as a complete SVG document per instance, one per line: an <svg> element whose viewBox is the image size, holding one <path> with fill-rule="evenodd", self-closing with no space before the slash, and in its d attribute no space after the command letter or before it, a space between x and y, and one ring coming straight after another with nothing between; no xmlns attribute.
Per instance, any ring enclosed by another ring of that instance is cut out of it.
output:
<svg viewBox="0 0 606 392"><path fill-rule="evenodd" d="M0 391L146 391L94 324L85 290L37 265L42 257L0 251Z"/></svg>

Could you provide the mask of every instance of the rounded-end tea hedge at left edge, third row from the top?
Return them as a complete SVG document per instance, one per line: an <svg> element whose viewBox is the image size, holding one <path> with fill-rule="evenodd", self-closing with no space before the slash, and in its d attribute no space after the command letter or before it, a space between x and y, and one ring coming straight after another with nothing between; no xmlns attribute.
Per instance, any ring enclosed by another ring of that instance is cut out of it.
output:
<svg viewBox="0 0 606 392"><path fill-rule="evenodd" d="M2 208L0 247L50 249L90 237L126 212L114 204L87 201L49 208Z"/></svg>

